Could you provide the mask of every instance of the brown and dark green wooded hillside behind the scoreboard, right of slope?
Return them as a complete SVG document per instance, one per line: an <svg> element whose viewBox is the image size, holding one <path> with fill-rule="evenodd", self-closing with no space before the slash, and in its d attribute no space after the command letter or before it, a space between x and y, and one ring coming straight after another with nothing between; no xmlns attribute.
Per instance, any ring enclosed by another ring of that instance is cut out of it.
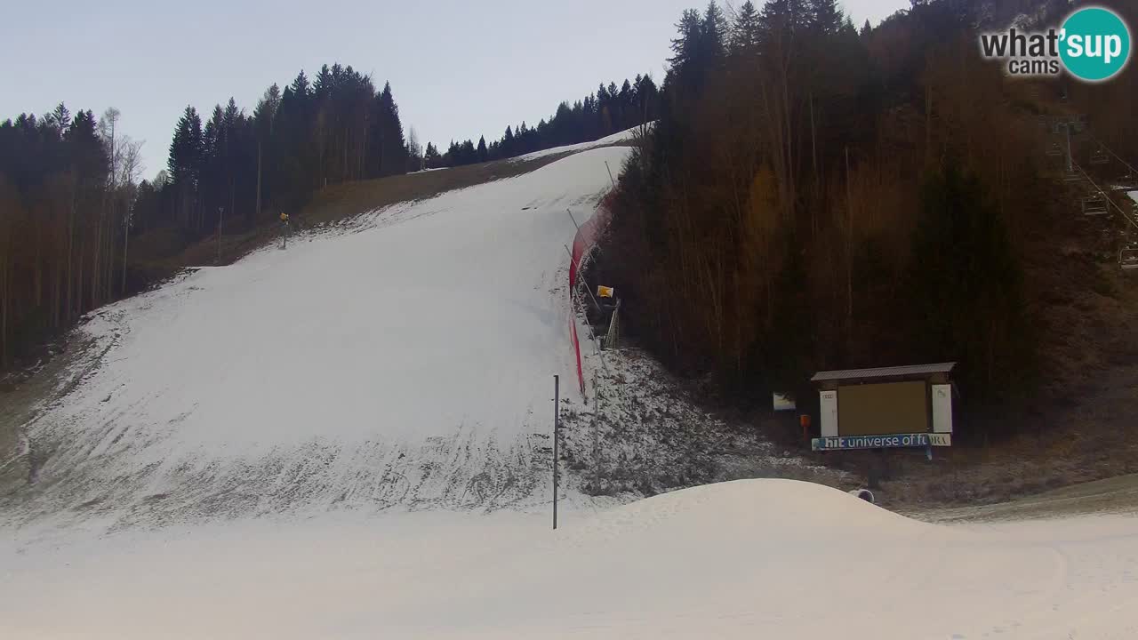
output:
<svg viewBox="0 0 1138 640"><path fill-rule="evenodd" d="M960 363L967 407L1034 393L1049 284L1025 260L1063 239L1037 118L1089 113L1132 155L1136 74L1016 82L975 34L1069 10L914 0L860 28L833 0L685 11L597 266L625 326L733 403L930 361Z"/></svg>

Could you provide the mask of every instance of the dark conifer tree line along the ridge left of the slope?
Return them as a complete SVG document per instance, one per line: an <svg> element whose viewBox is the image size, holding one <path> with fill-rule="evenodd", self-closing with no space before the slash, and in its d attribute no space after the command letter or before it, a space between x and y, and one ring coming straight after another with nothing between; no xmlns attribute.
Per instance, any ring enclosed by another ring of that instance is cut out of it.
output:
<svg viewBox="0 0 1138 640"><path fill-rule="evenodd" d="M389 84L352 66L303 71L273 84L251 112L232 98L185 107L166 167L142 180L140 143L114 108L64 104L0 122L0 368L83 313L168 272L138 268L218 232L296 213L319 189L427 167L487 162L595 140L655 117L648 76L601 85L536 126L500 140L452 142L440 154L404 132ZM133 243L133 246L132 246Z"/></svg>

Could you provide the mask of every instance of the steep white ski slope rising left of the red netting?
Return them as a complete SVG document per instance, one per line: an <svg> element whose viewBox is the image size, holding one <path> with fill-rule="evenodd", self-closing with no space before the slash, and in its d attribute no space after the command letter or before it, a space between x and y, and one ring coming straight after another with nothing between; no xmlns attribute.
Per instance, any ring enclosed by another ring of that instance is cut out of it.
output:
<svg viewBox="0 0 1138 640"><path fill-rule="evenodd" d="M587 219L627 151L395 205L99 310L83 331L101 359L30 429L36 506L130 524L545 500L552 376L575 387L566 212Z"/></svg>

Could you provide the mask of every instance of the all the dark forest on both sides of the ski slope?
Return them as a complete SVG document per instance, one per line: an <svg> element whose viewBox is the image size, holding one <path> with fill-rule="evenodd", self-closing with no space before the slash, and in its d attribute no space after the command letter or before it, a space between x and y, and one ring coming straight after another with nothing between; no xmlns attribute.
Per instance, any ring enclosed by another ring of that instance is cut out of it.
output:
<svg viewBox="0 0 1138 640"><path fill-rule="evenodd" d="M835 0L711 2L679 17L659 87L602 83L536 125L445 150L404 131L389 84L325 65L249 110L188 106L154 180L117 110L23 114L0 122L0 364L166 274L140 263L298 212L324 187L655 121L595 272L658 359L736 399L815 370L953 360L968 403L1006 403L1046 368L1049 284L1031 265L1059 196L1033 118L1062 99L1138 156L1132 68L1100 85L1023 83L979 55L979 28L1067 10L912 0L856 26Z"/></svg>

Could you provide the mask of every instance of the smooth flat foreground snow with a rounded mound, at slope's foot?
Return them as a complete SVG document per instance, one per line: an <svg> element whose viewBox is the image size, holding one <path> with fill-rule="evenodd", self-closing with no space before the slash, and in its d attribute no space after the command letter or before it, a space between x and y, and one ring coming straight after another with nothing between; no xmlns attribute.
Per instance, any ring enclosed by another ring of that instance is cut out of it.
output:
<svg viewBox="0 0 1138 640"><path fill-rule="evenodd" d="M0 536L5 638L1138 637L1138 519L943 526L740 481L546 516Z"/></svg>

